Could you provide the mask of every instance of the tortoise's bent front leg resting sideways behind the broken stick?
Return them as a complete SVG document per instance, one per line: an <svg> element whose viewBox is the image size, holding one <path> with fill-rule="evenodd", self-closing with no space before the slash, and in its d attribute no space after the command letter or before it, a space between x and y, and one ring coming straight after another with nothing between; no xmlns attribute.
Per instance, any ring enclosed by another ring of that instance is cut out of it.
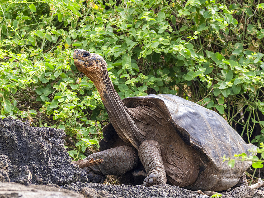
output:
<svg viewBox="0 0 264 198"><path fill-rule="evenodd" d="M115 147L89 155L85 159L103 159L98 165L85 167L88 178L93 183L103 183L105 175L120 176L134 169L138 165L138 155L134 148L129 146Z"/></svg>

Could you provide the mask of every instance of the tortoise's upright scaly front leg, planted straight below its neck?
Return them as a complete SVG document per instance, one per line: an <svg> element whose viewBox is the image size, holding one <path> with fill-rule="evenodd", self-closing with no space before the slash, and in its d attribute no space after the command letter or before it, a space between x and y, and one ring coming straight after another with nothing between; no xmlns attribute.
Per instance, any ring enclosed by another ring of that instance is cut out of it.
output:
<svg viewBox="0 0 264 198"><path fill-rule="evenodd" d="M167 178L159 143L155 140L145 140L139 145L138 156L147 176L143 182L143 186L166 184Z"/></svg>

